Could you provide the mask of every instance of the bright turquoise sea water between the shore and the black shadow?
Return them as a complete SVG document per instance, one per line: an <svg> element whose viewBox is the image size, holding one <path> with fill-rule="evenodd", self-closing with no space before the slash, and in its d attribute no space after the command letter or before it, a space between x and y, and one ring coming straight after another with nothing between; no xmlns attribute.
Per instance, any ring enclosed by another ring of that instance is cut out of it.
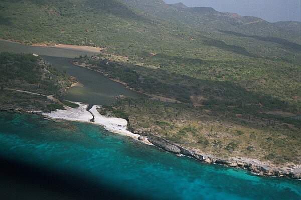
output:
<svg viewBox="0 0 301 200"><path fill-rule="evenodd" d="M0 112L0 155L150 199L301 199L301 181L178 157L77 122Z"/></svg>

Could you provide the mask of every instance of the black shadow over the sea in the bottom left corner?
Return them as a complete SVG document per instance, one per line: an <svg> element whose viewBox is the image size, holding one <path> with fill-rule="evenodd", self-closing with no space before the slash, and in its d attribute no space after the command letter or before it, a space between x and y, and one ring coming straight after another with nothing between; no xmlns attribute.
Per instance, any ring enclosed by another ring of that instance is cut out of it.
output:
<svg viewBox="0 0 301 200"><path fill-rule="evenodd" d="M146 199L98 182L0 157L1 199Z"/></svg>

